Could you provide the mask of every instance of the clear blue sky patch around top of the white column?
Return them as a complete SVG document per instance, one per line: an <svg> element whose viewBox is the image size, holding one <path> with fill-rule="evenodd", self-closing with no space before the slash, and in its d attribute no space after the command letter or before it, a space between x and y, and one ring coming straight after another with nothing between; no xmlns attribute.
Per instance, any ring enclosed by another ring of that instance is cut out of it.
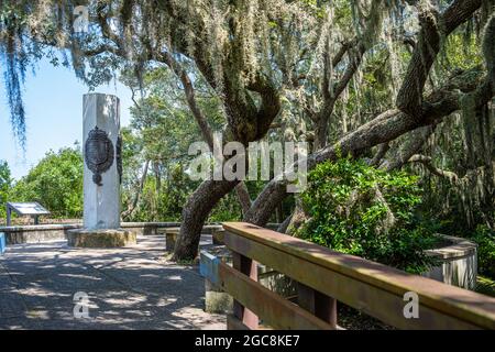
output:
<svg viewBox="0 0 495 352"><path fill-rule="evenodd" d="M89 90L69 68L53 67L47 61L42 61L34 76L28 74L24 85L25 153L12 135L3 82L0 89L0 160L9 163L15 179L26 175L50 150L58 151L82 140L82 95ZM130 89L112 81L95 91L120 98L121 125L128 125L132 105Z"/></svg>

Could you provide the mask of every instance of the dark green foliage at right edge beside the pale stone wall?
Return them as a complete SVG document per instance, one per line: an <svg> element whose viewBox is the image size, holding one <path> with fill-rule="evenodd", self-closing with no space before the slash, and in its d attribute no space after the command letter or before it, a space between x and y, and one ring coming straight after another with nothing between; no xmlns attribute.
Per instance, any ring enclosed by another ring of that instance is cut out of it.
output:
<svg viewBox="0 0 495 352"><path fill-rule="evenodd" d="M479 273L495 278L495 231L479 226L472 239L477 243Z"/></svg>

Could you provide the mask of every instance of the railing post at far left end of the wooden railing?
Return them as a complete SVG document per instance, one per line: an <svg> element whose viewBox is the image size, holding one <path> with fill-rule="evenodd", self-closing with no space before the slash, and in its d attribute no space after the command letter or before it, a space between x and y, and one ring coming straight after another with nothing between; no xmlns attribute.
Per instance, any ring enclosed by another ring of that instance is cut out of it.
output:
<svg viewBox="0 0 495 352"><path fill-rule="evenodd" d="M257 282L257 265L252 258L232 251L232 264L233 268ZM251 330L258 328L260 319L257 316L237 300L233 301L233 315Z"/></svg>

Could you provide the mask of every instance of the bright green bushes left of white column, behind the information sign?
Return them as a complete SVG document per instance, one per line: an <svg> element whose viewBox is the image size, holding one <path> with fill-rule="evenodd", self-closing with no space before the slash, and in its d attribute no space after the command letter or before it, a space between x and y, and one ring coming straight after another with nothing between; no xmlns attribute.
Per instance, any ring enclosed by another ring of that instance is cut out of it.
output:
<svg viewBox="0 0 495 352"><path fill-rule="evenodd" d="M50 151L11 191L13 201L37 201L53 217L82 216L82 157L79 145Z"/></svg>

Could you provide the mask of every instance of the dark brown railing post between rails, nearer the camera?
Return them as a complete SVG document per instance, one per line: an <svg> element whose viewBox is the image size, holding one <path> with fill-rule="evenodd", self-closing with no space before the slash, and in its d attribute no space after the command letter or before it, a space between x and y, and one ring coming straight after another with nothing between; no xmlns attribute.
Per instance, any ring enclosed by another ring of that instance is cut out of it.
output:
<svg viewBox="0 0 495 352"><path fill-rule="evenodd" d="M297 283L297 301L301 308L337 329L337 299Z"/></svg>

